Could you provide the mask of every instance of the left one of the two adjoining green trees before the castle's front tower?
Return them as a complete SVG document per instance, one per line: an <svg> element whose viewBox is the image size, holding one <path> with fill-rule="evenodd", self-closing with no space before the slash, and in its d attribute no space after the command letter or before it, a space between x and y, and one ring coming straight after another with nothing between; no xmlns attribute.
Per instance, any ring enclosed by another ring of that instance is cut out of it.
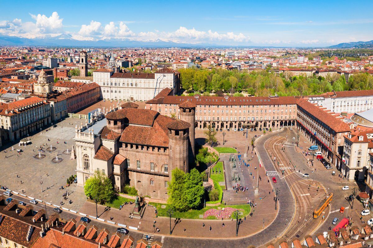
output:
<svg viewBox="0 0 373 248"><path fill-rule="evenodd" d="M167 203L174 210L184 212L189 210L188 201L185 195L185 173L179 168L171 171L171 182L168 186L169 198Z"/></svg>

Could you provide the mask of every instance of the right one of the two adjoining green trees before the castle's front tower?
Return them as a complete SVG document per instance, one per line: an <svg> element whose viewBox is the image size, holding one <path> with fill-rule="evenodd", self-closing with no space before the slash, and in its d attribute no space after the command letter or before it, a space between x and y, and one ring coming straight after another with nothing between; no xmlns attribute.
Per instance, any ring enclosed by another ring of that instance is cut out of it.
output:
<svg viewBox="0 0 373 248"><path fill-rule="evenodd" d="M203 197L203 173L193 168L190 173L185 174L185 197L189 209L195 209L201 204Z"/></svg>

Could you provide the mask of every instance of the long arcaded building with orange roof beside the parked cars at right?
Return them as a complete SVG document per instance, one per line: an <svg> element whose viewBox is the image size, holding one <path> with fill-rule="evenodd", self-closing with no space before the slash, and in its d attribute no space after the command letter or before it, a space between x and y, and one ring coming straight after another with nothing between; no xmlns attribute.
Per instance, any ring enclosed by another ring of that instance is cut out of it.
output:
<svg viewBox="0 0 373 248"><path fill-rule="evenodd" d="M326 108L297 99L298 129L319 146L324 157L338 170L341 170L344 135L352 128L343 119Z"/></svg>

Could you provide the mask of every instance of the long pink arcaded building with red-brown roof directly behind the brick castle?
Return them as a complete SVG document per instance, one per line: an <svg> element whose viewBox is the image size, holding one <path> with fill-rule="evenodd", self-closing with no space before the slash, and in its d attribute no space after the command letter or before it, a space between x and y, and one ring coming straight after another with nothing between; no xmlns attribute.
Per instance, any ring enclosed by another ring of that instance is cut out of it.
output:
<svg viewBox="0 0 373 248"><path fill-rule="evenodd" d="M172 96L164 89L154 99L146 102L146 109L161 115L180 116L179 104L196 105L195 127L243 128L256 126L270 128L296 125L297 106L294 97L205 97Z"/></svg>

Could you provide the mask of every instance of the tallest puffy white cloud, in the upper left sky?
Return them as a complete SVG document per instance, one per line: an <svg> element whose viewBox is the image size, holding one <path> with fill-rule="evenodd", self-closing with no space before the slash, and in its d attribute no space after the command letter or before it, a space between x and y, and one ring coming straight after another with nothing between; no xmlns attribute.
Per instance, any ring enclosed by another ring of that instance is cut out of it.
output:
<svg viewBox="0 0 373 248"><path fill-rule="evenodd" d="M36 20L35 26L40 29L41 33L58 33L62 32L62 20L57 12L53 12L50 17L46 15L37 16L30 14L32 19Z"/></svg>

